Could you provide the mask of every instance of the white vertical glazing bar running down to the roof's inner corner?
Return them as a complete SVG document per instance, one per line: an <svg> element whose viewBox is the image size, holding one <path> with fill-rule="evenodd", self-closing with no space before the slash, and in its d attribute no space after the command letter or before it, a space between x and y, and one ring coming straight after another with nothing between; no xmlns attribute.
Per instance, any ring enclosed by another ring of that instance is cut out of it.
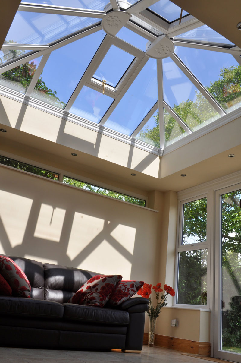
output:
<svg viewBox="0 0 241 363"><path fill-rule="evenodd" d="M157 83L158 83L158 107L159 107L159 132L160 132L160 148L165 147L165 124L164 124L164 112L163 112L163 70L162 59L156 60L157 68Z"/></svg>

